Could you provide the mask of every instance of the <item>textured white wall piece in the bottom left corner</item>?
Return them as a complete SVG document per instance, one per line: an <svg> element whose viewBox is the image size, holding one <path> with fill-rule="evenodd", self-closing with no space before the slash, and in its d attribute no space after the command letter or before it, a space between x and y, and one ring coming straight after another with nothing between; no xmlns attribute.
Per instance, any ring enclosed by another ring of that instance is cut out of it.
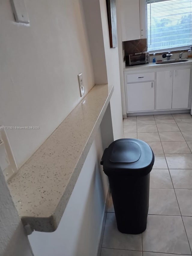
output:
<svg viewBox="0 0 192 256"><path fill-rule="evenodd" d="M32 256L29 240L0 168L0 255Z"/></svg>

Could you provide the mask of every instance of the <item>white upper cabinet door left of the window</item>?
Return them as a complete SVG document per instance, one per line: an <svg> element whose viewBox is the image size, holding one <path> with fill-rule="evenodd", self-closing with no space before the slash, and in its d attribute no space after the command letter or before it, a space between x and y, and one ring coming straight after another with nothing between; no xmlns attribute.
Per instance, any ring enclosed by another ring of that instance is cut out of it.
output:
<svg viewBox="0 0 192 256"><path fill-rule="evenodd" d="M122 41L140 39L139 0L120 0Z"/></svg>

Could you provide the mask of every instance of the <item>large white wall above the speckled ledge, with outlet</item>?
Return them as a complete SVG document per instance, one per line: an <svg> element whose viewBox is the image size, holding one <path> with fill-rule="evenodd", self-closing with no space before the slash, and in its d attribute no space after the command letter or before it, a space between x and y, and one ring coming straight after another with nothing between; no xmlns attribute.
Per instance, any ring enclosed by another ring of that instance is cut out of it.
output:
<svg viewBox="0 0 192 256"><path fill-rule="evenodd" d="M81 100L94 74L79 0L25 0L30 26L14 22L10 1L0 1L0 124L40 126L7 130L20 167Z"/></svg>

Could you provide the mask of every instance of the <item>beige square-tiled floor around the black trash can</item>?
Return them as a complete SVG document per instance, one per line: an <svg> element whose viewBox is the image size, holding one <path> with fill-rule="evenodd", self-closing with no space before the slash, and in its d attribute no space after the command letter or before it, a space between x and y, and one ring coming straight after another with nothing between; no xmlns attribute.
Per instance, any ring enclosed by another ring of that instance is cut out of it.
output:
<svg viewBox="0 0 192 256"><path fill-rule="evenodd" d="M192 255L192 116L131 116L123 124L125 138L146 141L155 154L147 229L120 233L110 197L101 256Z"/></svg>

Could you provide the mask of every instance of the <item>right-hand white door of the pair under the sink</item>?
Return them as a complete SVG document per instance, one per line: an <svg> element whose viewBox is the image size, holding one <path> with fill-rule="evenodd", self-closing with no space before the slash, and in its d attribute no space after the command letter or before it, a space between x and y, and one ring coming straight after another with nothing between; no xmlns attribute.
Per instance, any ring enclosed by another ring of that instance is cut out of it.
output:
<svg viewBox="0 0 192 256"><path fill-rule="evenodd" d="M172 108L187 108L189 100L190 68L174 70Z"/></svg>

